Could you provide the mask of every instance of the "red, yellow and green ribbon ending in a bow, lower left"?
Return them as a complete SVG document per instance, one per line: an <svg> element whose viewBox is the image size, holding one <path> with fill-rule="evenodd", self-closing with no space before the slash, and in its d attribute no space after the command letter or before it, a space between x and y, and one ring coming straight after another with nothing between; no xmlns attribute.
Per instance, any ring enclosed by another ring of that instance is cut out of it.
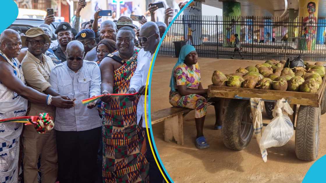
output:
<svg viewBox="0 0 326 183"><path fill-rule="evenodd" d="M52 117L50 117L48 113L40 113L38 116L22 116L0 120L0 123L4 122L25 123L25 125L33 125L39 134L44 134L46 131L51 131L54 128Z"/></svg>

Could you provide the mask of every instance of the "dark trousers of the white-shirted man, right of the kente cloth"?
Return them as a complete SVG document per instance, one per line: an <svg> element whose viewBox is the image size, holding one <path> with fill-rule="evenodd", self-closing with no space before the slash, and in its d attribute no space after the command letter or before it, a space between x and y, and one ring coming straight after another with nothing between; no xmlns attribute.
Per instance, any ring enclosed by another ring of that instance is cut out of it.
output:
<svg viewBox="0 0 326 183"><path fill-rule="evenodd" d="M143 121L143 122L145 122L145 121ZM149 132L149 136L151 136L149 129L148 129L148 132ZM152 149L151 149L151 146L148 141L148 136L147 136L146 130L145 130L145 133L146 133L145 137L146 137L146 148L147 148L146 159L149 162L149 182L150 183L152 183L152 182L153 183L162 183L164 181L164 178L155 162L154 155L152 153Z"/></svg>

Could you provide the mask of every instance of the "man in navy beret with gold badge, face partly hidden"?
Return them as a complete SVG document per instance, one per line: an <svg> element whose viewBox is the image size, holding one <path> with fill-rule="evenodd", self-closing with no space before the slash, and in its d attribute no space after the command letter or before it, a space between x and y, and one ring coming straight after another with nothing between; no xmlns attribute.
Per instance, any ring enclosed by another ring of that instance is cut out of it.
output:
<svg viewBox="0 0 326 183"><path fill-rule="evenodd" d="M85 54L96 47L95 32L92 29L82 30L75 38L84 45Z"/></svg>

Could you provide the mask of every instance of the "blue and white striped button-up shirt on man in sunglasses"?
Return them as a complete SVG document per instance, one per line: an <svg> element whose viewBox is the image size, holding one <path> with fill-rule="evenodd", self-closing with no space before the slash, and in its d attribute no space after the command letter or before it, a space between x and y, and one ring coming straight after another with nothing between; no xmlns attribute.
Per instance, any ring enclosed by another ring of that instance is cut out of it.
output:
<svg viewBox="0 0 326 183"><path fill-rule="evenodd" d="M56 65L50 75L50 83L55 91L75 100L70 109L56 108L55 130L85 131L102 126L97 107L92 109L82 105L82 100L101 93L101 73L95 62L84 60L76 73L67 62Z"/></svg>

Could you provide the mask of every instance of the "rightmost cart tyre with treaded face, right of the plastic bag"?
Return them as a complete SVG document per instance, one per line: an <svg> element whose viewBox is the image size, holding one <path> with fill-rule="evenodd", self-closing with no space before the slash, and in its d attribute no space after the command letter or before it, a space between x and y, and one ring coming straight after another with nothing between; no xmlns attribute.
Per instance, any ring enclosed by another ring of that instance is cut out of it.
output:
<svg viewBox="0 0 326 183"><path fill-rule="evenodd" d="M295 130L295 154L301 160L317 159L320 107L300 106Z"/></svg>

